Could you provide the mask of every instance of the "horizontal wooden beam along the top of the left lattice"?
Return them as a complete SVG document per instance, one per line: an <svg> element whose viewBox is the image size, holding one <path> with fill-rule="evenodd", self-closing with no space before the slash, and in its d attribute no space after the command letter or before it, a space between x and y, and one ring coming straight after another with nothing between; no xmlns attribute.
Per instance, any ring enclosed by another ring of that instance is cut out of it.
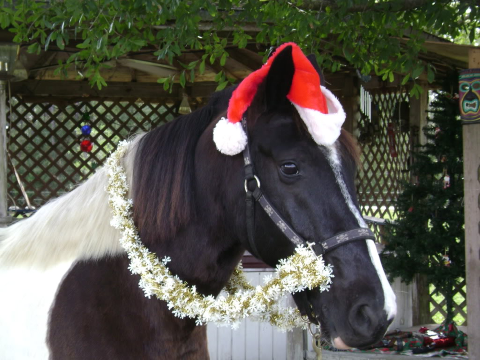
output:
<svg viewBox="0 0 480 360"><path fill-rule="evenodd" d="M209 97L215 91L216 82L198 82L185 86L192 97ZM154 82L107 82L100 90L91 87L88 81L75 80L24 80L11 83L12 94L25 96L59 97L177 97L179 84L173 84L172 92L163 90L161 84Z"/></svg>

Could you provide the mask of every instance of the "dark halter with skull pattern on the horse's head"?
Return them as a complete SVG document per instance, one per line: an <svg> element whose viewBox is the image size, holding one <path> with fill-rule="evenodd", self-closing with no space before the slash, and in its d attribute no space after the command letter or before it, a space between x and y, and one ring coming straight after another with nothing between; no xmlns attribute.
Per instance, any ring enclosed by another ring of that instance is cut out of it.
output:
<svg viewBox="0 0 480 360"><path fill-rule="evenodd" d="M241 120L243 130L245 131L247 138L247 126L246 119ZM264 194L260 190L260 179L255 175L252 158L250 156L250 150L248 141L243 150L243 162L245 170L245 191L246 191L246 230L248 235L248 242L250 249L256 257L260 258L258 250L254 241L254 223L255 223L255 201L261 205L263 210L268 214L270 219L275 225L288 237L288 239L295 245L305 245L313 253L318 256L324 254L334 248L343 245L345 243L357 240L372 239L375 240L373 232L366 227L358 227L353 230L337 233L321 242L308 242L298 235L290 225L278 214L278 211L268 201Z"/></svg>

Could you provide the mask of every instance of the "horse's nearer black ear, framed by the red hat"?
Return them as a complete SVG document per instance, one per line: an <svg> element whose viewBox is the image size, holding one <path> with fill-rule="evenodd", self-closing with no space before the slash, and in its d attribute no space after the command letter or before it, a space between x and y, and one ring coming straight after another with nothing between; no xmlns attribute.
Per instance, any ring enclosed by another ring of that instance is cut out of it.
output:
<svg viewBox="0 0 480 360"><path fill-rule="evenodd" d="M265 97L268 109L278 108L287 101L295 68L291 56L292 47L286 46L276 54L265 79Z"/></svg>

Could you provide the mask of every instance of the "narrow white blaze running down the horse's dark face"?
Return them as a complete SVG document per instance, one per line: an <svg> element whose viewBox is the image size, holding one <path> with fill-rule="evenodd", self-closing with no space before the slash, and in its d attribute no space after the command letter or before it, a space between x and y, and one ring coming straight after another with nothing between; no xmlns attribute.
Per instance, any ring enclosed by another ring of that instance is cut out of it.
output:
<svg viewBox="0 0 480 360"><path fill-rule="evenodd" d="M358 211L358 208L353 203L353 199L351 198L345 181L343 180L343 176L340 170L341 159L338 155L335 144L331 146L326 146L326 149L328 163L330 164L333 174L335 175L336 183L340 187L341 194L343 195L343 198L345 199L348 208L353 213L353 216L355 216L360 227L368 227L365 223L365 220L363 219L363 216L361 216L360 211ZM384 297L383 309L385 310L387 319L389 320L396 315L396 296L393 293L390 283L386 278L385 271L383 271L383 267L381 266L380 257L378 256L375 243L373 242L373 240L367 239L366 246L368 249L368 254L370 255L371 262L375 267L378 278L380 279Z"/></svg>

